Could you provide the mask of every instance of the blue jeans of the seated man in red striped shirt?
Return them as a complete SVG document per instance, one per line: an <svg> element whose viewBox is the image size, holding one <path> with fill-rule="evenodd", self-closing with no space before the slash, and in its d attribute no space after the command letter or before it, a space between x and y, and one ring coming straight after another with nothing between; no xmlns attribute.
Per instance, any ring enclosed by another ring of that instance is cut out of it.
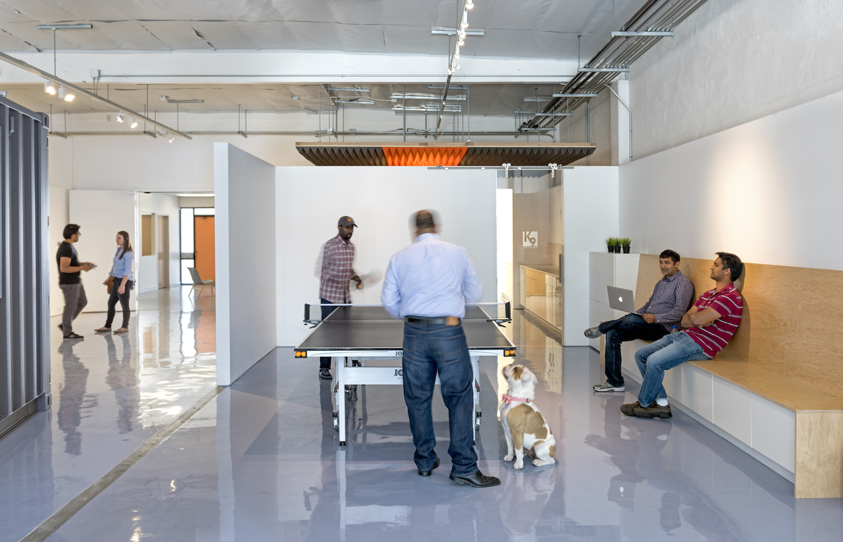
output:
<svg viewBox="0 0 843 542"><path fill-rule="evenodd" d="M644 382L638 393L638 402L650 406L657 399L667 399L662 381L664 372L685 362L709 359L702 353L702 346L696 344L685 331L664 335L658 341L639 348L635 353L635 362L641 371Z"/></svg>

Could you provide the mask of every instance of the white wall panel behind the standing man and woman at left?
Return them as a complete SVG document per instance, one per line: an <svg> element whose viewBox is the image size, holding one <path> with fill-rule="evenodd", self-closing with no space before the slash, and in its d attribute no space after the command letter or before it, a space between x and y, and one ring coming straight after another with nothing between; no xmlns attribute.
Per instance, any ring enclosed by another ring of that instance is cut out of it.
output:
<svg viewBox="0 0 843 542"><path fill-rule="evenodd" d="M79 261L90 261L97 265L96 269L82 272L82 283L85 287L85 295L88 296L88 305L83 312L104 313L108 309L109 296L103 281L111 270L111 261L117 250L115 236L117 232L123 230L129 233L130 239L138 239L137 195L129 191L72 190L68 195L68 209L68 222L81 227L79 231L82 235L74 244L79 253ZM137 261L140 259L141 249L137 244L132 248L135 250L135 278L137 278L139 271ZM55 252L58 249L56 246L52 249L55 260ZM57 295L59 298L62 297L61 291L57 288L54 292L59 292ZM51 300L51 303L61 305L63 301L62 299ZM136 307L137 288L134 288L132 296L129 297L129 309L135 310ZM118 310L120 310L119 306ZM105 315L103 324L105 324Z"/></svg>

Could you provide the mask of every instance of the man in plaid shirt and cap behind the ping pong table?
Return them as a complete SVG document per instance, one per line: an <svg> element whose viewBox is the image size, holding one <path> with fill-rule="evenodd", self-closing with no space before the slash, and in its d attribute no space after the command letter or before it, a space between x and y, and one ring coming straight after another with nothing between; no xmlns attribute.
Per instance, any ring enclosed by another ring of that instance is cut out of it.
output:
<svg viewBox="0 0 843 542"><path fill-rule="evenodd" d="M352 217L341 217L336 224L339 233L325 243L322 252L322 273L319 276L319 298L321 303L352 303L352 292L349 283L357 281L357 287L362 280L354 272L354 245L352 235L357 224ZM330 307L322 307L322 319L332 311ZM319 358L319 377L330 380L330 357Z"/></svg>

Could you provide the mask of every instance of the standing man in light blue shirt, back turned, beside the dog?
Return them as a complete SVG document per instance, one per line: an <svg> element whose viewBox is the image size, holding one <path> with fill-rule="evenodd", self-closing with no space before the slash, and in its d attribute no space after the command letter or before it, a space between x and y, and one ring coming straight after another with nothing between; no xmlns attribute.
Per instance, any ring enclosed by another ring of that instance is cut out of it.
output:
<svg viewBox="0 0 843 542"><path fill-rule="evenodd" d="M430 476L439 466L431 413L439 373L451 430L450 479L490 487L501 480L477 468L471 431L474 371L460 321L465 302L480 301L482 293L465 249L439 238L432 212L417 212L416 240L389 259L380 297L393 318L404 319L404 400L416 445L414 459L420 476Z"/></svg>

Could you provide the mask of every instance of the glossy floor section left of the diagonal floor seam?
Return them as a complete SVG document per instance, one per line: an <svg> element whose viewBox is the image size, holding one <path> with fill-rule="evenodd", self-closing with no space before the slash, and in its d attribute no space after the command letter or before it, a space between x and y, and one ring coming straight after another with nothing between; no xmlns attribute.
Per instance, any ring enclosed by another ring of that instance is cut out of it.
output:
<svg viewBox="0 0 843 542"><path fill-rule="evenodd" d="M0 438L0 542L23 539L213 389L214 300L189 289L141 294L126 334L94 333L104 313L83 313L84 339L63 341L51 319L53 408Z"/></svg>

